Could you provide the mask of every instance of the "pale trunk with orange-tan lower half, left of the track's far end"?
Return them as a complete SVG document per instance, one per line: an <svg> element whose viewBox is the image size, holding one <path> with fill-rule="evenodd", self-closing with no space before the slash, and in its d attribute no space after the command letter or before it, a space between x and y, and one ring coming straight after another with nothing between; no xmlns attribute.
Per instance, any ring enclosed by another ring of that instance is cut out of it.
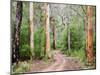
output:
<svg viewBox="0 0 100 75"><path fill-rule="evenodd" d="M46 34L46 55L50 58L50 29L49 29L49 4L45 3L45 34Z"/></svg>

